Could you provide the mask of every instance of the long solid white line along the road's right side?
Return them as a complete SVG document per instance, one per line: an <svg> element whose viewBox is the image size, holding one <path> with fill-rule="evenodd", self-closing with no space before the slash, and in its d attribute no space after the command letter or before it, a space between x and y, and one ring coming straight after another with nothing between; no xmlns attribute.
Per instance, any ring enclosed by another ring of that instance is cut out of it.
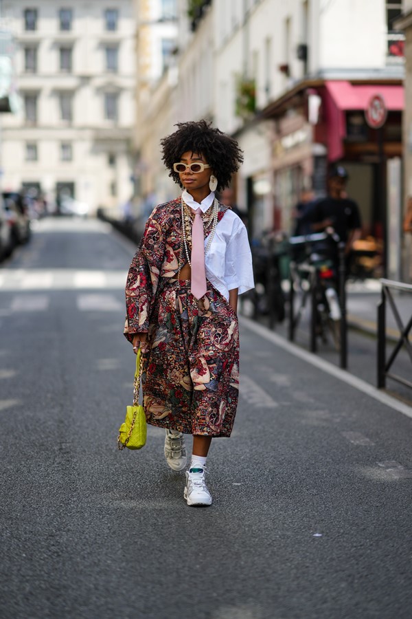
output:
<svg viewBox="0 0 412 619"><path fill-rule="evenodd" d="M262 325L258 325L257 323L253 323L253 321L249 320L249 318L244 318L244 316L239 317L240 325L249 329L255 334L258 334L264 340L270 341L271 343L279 346L288 353L298 357L301 360L306 361L310 365L321 369L322 371L330 374L330 376L334 376L334 378L338 378L339 380L346 382L354 389L358 389L358 391L362 391L366 393L371 398L374 398L377 402L381 404L385 404L389 406L390 409L394 411L398 411L398 413L402 413L402 415L407 415L407 417L412 418L412 406L408 406L408 404L404 404L404 402L400 402L400 400L396 400L396 398L392 398L391 395L383 391L379 391L376 387L373 387L371 384L358 378L357 376L353 376L349 372L336 367L332 363L325 361L324 359L317 357L316 355L299 348L297 345L284 340L281 336L269 331L266 327Z"/></svg>

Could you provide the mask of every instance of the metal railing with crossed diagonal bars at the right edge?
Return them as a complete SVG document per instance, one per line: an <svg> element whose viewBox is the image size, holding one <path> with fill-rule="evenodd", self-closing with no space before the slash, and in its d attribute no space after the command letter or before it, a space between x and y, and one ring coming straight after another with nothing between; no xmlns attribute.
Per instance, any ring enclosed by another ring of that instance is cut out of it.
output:
<svg viewBox="0 0 412 619"><path fill-rule="evenodd" d="M407 283L402 283L400 281L392 281L390 279L380 279L380 283L382 284L382 292L380 303L378 305L378 389L385 389L386 387L386 379L391 378L391 380L395 380L400 384L403 384L406 387L412 389L412 382L403 378L402 376L398 376L398 374L394 374L391 372L391 367L396 357L398 356L399 351L402 347L405 347L407 353L409 354L409 358L412 363L412 345L409 341L409 332L412 329L412 310L411 317L408 320L407 325L404 325L400 313L398 311L398 307L396 307L395 299L393 298L393 294L391 290L399 290L401 292L406 292L412 295L412 285ZM396 324L399 328L400 336L396 345L389 356L389 359L386 358L386 305L387 301L391 306L391 310L393 312L393 316L396 320ZM411 296L412 302L412 296ZM411 303L412 307L412 303Z"/></svg>

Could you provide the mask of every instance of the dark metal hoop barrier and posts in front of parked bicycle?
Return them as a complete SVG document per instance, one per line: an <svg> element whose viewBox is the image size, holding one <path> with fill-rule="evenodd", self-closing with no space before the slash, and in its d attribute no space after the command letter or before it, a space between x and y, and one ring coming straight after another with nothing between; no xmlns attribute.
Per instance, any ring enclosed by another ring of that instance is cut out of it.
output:
<svg viewBox="0 0 412 619"><path fill-rule="evenodd" d="M298 262L290 261L290 296L289 296L289 324L288 339L295 340L295 331L306 306L306 301L310 298L310 351L317 352L317 288L319 287L319 270L316 265L310 263L309 254L313 243L332 238L338 247L339 267L338 267L338 296L341 310L341 321L339 325L339 362L340 367L347 368L347 321L346 321L346 267L345 267L345 243L341 243L339 237L325 232L318 232L312 235L301 237L290 237L290 245L304 246L306 259ZM306 274L308 287L301 289L301 303L295 312L295 283L299 281L300 273Z"/></svg>

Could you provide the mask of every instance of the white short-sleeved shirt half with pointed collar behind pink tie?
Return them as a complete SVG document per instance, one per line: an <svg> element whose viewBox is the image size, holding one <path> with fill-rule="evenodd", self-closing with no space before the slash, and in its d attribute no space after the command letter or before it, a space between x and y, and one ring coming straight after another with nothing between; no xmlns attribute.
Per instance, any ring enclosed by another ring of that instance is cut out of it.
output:
<svg viewBox="0 0 412 619"><path fill-rule="evenodd" d="M193 210L200 208L202 213L214 202L214 192L195 202L187 191L182 198ZM205 246L207 238L205 239ZM229 290L238 288L239 294L255 286L253 281L252 254L247 237L246 226L233 210L228 209L218 221L209 251L205 255L206 277L229 301Z"/></svg>

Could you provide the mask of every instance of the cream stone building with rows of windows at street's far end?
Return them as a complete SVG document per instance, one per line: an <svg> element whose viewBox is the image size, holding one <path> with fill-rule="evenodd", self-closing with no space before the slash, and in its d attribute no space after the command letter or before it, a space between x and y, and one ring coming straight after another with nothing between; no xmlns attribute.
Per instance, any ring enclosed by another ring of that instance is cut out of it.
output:
<svg viewBox="0 0 412 619"><path fill-rule="evenodd" d="M133 193L132 0L5 0L21 106L3 119L3 189L117 208Z"/></svg>

